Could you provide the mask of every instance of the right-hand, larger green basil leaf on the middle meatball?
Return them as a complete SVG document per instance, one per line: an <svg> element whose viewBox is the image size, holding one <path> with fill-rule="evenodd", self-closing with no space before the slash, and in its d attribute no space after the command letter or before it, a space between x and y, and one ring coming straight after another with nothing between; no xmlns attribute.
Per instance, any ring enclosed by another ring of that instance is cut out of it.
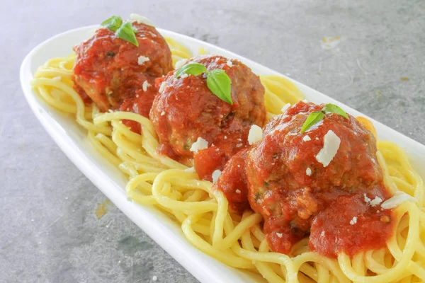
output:
<svg viewBox="0 0 425 283"><path fill-rule="evenodd" d="M222 69L215 69L207 74L207 86L221 100L233 105L232 80Z"/></svg>

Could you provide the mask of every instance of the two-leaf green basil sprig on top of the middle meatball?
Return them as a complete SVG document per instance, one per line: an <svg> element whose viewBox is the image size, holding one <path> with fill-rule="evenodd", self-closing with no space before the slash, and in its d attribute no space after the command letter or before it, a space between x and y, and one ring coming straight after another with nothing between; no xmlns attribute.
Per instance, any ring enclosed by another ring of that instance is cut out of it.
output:
<svg viewBox="0 0 425 283"><path fill-rule="evenodd" d="M233 105L232 101L232 80L222 69L208 71L205 65L200 63L189 63L176 71L176 78L183 74L198 76L202 73L207 75L207 86L212 93L221 100Z"/></svg>

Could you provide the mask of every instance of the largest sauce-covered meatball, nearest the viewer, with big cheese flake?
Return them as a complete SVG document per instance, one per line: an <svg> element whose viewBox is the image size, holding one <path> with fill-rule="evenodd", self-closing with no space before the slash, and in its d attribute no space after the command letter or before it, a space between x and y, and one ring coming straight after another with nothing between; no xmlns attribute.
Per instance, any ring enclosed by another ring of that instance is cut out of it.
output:
<svg viewBox="0 0 425 283"><path fill-rule="evenodd" d="M301 133L310 112L322 108L300 101L266 125L246 154L249 203L280 253L308 234L310 250L331 258L384 247L393 221L377 206L390 195L373 134L334 113Z"/></svg>

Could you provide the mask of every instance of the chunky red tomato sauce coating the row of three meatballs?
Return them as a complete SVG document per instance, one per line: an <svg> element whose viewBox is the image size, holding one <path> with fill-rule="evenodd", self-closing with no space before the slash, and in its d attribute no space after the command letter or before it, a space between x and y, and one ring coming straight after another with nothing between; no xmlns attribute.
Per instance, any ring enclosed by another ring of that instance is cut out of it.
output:
<svg viewBox="0 0 425 283"><path fill-rule="evenodd" d="M214 189L225 194L232 211L253 209L263 216L273 251L288 254L306 236L310 250L329 258L385 247L394 231L394 216L391 209L367 201L390 197L368 130L351 116L328 113L301 134L307 115L323 105L300 102L273 118L263 140L249 146L249 128L263 126L266 117L258 76L237 60L192 59L209 70L226 71L233 105L213 96L203 76L175 78L171 72L159 78L172 69L169 47L154 28L133 25L139 47L106 28L74 47L74 89L85 103L94 101L101 111L119 109L150 117L161 141L158 151L183 163L193 160L201 179L211 180L213 171L222 171ZM138 64L140 56L149 60ZM159 95L164 81L170 88ZM140 133L137 122L123 122ZM329 166L323 166L314 156L329 130L341 145ZM303 140L306 134L309 141ZM209 146L193 153L191 145L198 137Z"/></svg>

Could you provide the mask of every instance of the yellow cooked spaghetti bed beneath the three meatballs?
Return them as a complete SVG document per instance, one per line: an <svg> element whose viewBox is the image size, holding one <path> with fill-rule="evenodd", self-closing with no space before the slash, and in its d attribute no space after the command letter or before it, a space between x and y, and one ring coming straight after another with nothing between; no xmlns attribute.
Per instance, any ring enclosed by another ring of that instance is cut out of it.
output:
<svg viewBox="0 0 425 283"><path fill-rule="evenodd" d="M174 65L191 57L181 43L171 38L166 42ZM212 190L212 183L199 180L193 168L157 153L159 141L149 119L132 112L103 113L94 104L84 105L73 88L74 59L74 54L54 58L40 67L32 81L36 93L53 108L75 115L96 150L128 175L128 197L139 204L152 204L178 221L196 248L231 267L259 273L268 282L425 282L424 184L399 146L378 141L385 185L392 193L405 192L416 202L395 208L396 229L386 248L353 258L341 253L331 259L309 251L308 238L304 238L290 255L273 253L259 214L232 214L226 197ZM280 114L286 103L302 99L297 87L279 76L261 76L261 83L268 119ZM123 120L140 123L141 134L125 127ZM374 130L370 122L361 122Z"/></svg>

